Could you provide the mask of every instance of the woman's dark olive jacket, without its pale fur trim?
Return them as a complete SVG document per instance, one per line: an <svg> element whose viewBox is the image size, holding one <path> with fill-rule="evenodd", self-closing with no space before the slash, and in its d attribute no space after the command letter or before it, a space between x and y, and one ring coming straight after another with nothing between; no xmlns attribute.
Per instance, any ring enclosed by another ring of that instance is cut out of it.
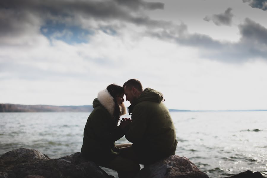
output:
<svg viewBox="0 0 267 178"><path fill-rule="evenodd" d="M115 141L125 133L98 98L93 101L93 108L84 128L81 151L89 160L108 163L119 154Z"/></svg>

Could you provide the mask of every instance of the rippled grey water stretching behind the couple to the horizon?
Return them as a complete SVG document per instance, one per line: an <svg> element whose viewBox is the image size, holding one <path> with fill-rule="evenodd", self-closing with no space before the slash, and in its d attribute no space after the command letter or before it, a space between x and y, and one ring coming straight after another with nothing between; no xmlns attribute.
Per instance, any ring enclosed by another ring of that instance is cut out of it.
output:
<svg viewBox="0 0 267 178"><path fill-rule="evenodd" d="M0 155L25 147L50 158L80 152L88 112L0 113ZM267 175L267 112L171 112L176 154L209 177ZM123 137L116 143L127 143ZM115 171L104 169L117 177Z"/></svg>

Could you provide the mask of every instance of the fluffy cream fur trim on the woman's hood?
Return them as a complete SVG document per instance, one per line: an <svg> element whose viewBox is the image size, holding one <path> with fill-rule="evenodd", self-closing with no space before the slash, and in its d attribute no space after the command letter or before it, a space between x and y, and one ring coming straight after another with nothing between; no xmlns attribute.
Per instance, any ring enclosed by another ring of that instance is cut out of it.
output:
<svg viewBox="0 0 267 178"><path fill-rule="evenodd" d="M105 89L105 90L101 90L100 92L98 92L97 99L100 102L100 104L102 104L108 110L109 114L113 116L114 109L115 109L115 101L113 97L109 94L108 90ZM123 103L119 106L120 106L121 115L125 115L126 107L124 106ZM93 103L93 107L94 107L94 103Z"/></svg>

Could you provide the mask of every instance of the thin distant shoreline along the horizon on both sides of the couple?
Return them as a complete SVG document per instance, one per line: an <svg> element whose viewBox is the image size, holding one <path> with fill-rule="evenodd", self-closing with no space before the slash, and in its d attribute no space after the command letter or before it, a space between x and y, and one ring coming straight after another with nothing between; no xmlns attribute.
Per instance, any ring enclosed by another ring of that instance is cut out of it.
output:
<svg viewBox="0 0 267 178"><path fill-rule="evenodd" d="M82 106L53 106L53 105L23 105L23 104L0 104L0 112L92 112L92 105ZM259 112L267 109L246 110L182 110L169 109L170 112Z"/></svg>

